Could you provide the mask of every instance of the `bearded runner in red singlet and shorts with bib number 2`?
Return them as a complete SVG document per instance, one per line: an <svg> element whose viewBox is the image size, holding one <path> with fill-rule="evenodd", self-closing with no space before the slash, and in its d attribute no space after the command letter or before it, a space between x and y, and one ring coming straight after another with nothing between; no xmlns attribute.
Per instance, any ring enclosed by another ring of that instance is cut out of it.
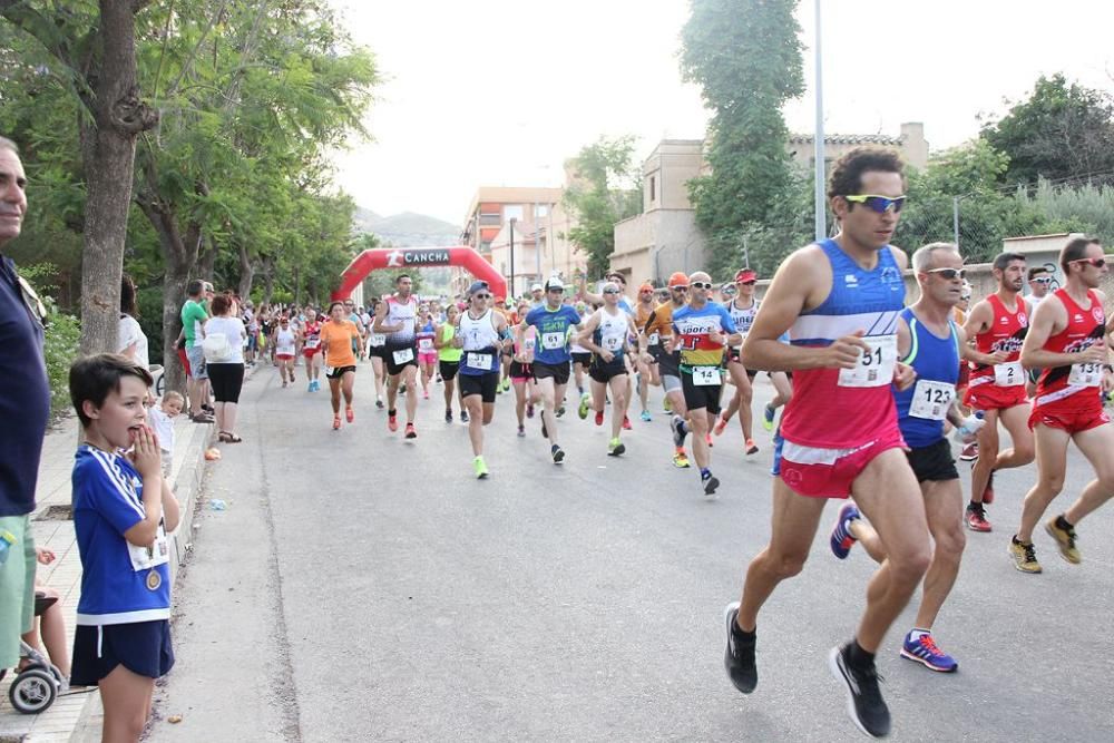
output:
<svg viewBox="0 0 1114 743"><path fill-rule="evenodd" d="M1022 299L1025 256L1003 253L994 260L998 291L971 307L964 325L975 339L970 381L964 402L983 411L978 459L971 469L971 501L965 520L973 531L989 531L985 504L994 500L995 470L1024 467L1033 461L1033 432L1027 426L1028 397L1022 368L1022 342L1028 331L1028 306ZM1014 446L998 451L998 422L1009 431Z"/></svg>

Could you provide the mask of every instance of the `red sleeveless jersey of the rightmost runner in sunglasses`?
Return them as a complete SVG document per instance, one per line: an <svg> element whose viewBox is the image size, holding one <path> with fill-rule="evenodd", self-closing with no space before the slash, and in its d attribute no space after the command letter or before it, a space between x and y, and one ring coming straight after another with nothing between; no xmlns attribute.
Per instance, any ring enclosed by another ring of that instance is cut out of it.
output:
<svg viewBox="0 0 1114 743"><path fill-rule="evenodd" d="M1106 336L1106 313L1093 291L1087 291L1091 306L1084 310L1067 291L1057 289L1053 296L1067 310L1067 326L1045 341L1045 350L1056 353L1081 353L1092 345L1102 344ZM1045 369L1037 380L1037 405L1063 401L1068 408L1102 408L1096 387L1086 382L1102 382L1102 364L1069 364Z"/></svg>

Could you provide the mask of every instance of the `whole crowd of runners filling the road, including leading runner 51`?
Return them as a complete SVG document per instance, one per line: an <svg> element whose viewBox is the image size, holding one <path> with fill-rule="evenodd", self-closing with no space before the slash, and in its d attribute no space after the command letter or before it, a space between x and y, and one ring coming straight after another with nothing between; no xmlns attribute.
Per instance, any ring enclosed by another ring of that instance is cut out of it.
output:
<svg viewBox="0 0 1114 743"><path fill-rule="evenodd" d="M607 427L607 456L632 456L624 441L631 405L637 400L638 418L652 422L648 390L661 388L671 450L637 456L695 469L705 497L721 485L712 471L715 438L737 419L743 448L729 456L753 456L760 422L774 447L772 534L725 612L727 674L744 694L754 691L760 609L802 569L827 500L847 499L831 551L847 559L858 544L880 567L854 637L832 649L830 666L846 682L854 723L886 735L890 717L874 656L920 585L900 655L932 671L958 668L932 625L959 573L964 526L991 530L995 472L1036 462L1020 522L1004 545L1028 574L1042 571L1038 526L1065 560L1079 564L1076 527L1114 495L1114 428L1104 409L1114 390L1114 320L1100 290L1108 266L1096 239L1074 238L1059 255L1062 286L1049 291L1046 266L1029 268L1024 255L1003 253L993 262L995 291L971 304L955 245L932 243L911 257L890 245L906 202L895 154L863 148L843 157L829 198L839 234L790 255L762 300L749 267L721 286L702 271L674 273L665 286L639 285L633 297L622 273L590 287L579 275L575 285L551 277L510 305L482 281L456 301L422 300L402 275L394 293L368 307L333 302L268 315L264 345L283 387L304 373L315 391L323 370L334 429L342 395L345 419L354 421L360 361L373 366L387 428L399 430L401 409L410 440L419 436L419 395L429 400L440 385L444 422L457 414L468 426L479 479L491 476L485 427L502 393L515 408L506 424L522 437L527 419L538 419L548 458L565 466L559 439L575 424L558 419L570 410L592 417ZM915 296L907 296L907 268ZM759 374L775 394L754 411ZM1094 479L1046 518L1064 486L1071 442ZM973 461L967 498L954 447Z"/></svg>

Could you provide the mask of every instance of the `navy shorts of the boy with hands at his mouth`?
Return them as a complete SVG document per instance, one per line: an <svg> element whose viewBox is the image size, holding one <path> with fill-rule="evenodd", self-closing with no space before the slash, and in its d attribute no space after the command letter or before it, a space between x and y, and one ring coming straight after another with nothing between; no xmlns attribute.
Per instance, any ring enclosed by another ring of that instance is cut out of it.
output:
<svg viewBox="0 0 1114 743"><path fill-rule="evenodd" d="M148 678L168 674L174 667L170 623L155 619L75 628L71 686L96 686L118 665Z"/></svg>

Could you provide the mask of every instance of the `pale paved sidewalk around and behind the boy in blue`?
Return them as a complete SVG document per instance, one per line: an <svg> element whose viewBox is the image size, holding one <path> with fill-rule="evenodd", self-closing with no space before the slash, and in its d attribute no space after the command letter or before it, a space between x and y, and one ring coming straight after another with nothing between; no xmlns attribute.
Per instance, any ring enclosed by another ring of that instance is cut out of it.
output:
<svg viewBox="0 0 1114 743"><path fill-rule="evenodd" d="M245 383L252 370L245 373ZM174 459L170 470L170 487L182 506L182 522L170 536L170 574L177 576L178 564L186 555L193 540L193 516L195 496L205 473L205 449L215 436L214 426L194 423L187 416L175 421ZM39 483L36 495L32 528L39 547L50 549L57 556L51 565L40 565L37 580L58 592L66 616L67 645L74 646L76 613L81 592L81 559L70 508L70 475L74 469L74 452L78 442L78 421L69 417L47 433L39 465ZM96 687L75 690L58 697L46 712L38 715L20 714L11 707L8 687L14 676L9 673L0 682L0 743L22 741L25 743L62 743L79 737L81 730L96 726L96 739L100 734L100 697ZM76 734L76 732L78 734Z"/></svg>

